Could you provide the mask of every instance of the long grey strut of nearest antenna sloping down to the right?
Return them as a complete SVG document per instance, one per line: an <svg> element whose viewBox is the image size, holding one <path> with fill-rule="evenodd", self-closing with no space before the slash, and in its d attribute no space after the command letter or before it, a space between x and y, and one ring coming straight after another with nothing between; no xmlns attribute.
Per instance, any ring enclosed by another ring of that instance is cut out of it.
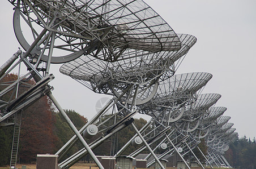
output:
<svg viewBox="0 0 256 169"><path fill-rule="evenodd" d="M75 135L78 137L78 139L83 144L84 148L86 148L87 152L91 155L93 161L97 164L97 166L100 169L104 169L104 167L101 165L99 159L95 156L95 154L92 152L92 150L89 148L89 145L86 143L86 141L83 139L82 135L80 135L79 131L76 129L74 124L71 122L67 114L64 112L64 110L61 108L61 105L59 105L58 101L54 98L52 93L48 94L48 97L53 101L53 104L56 106L56 108L59 110L59 112L62 114L63 118L65 118L66 122L69 124L71 129L74 131Z"/></svg>

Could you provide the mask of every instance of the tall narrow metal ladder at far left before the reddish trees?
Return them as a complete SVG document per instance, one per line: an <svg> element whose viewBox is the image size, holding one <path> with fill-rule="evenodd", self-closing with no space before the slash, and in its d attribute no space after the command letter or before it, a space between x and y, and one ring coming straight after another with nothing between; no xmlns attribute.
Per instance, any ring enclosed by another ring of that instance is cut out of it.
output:
<svg viewBox="0 0 256 169"><path fill-rule="evenodd" d="M14 137L12 140L10 168L16 168L21 123L22 123L22 112L18 112L15 114Z"/></svg>

